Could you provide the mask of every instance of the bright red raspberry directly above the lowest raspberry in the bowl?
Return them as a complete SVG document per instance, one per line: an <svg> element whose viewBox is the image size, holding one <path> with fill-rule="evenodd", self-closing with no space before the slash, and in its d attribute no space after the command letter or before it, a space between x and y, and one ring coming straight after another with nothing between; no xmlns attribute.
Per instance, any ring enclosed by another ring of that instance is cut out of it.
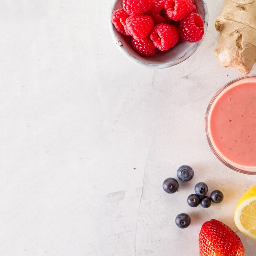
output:
<svg viewBox="0 0 256 256"><path fill-rule="evenodd" d="M136 40L144 39L153 26L154 22L148 15L130 16L126 19L128 33Z"/></svg>

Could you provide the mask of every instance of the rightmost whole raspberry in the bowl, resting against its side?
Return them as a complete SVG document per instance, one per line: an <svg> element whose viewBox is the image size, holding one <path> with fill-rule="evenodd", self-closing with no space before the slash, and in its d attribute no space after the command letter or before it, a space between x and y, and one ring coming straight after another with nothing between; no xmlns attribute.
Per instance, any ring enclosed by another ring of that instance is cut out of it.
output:
<svg viewBox="0 0 256 256"><path fill-rule="evenodd" d="M202 39L204 35L204 22L198 13L192 12L180 21L180 37L190 43Z"/></svg>

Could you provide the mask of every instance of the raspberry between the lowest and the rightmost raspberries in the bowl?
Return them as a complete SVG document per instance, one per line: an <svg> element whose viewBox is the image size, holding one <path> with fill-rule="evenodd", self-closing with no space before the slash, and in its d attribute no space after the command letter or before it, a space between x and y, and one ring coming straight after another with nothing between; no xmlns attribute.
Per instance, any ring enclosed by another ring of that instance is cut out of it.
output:
<svg viewBox="0 0 256 256"><path fill-rule="evenodd" d="M160 51L166 51L177 43L179 34L175 26L161 23L155 25L150 39Z"/></svg>

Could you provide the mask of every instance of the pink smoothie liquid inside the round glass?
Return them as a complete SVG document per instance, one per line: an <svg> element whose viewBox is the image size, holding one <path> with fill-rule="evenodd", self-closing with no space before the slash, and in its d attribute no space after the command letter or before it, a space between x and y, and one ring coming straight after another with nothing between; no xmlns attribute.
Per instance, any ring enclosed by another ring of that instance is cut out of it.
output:
<svg viewBox="0 0 256 256"><path fill-rule="evenodd" d="M241 166L256 166L256 82L241 82L224 92L209 120L213 143Z"/></svg>

